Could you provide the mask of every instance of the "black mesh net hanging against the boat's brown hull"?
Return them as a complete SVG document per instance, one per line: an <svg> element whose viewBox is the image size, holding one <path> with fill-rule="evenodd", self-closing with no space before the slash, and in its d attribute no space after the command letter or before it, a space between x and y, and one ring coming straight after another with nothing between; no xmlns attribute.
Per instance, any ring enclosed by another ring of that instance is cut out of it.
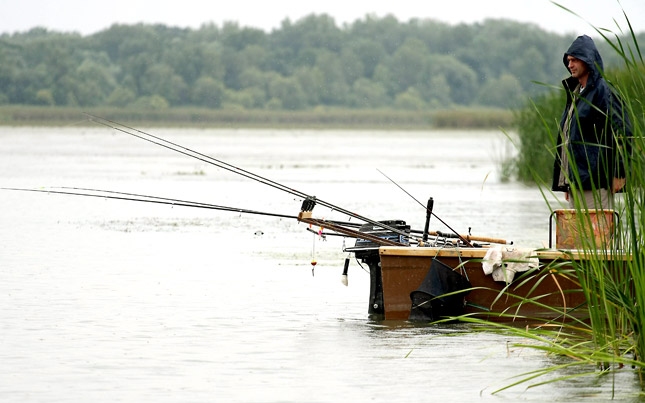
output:
<svg viewBox="0 0 645 403"><path fill-rule="evenodd" d="M470 282L450 266L432 259L430 270L419 288L410 293L412 308L408 320L428 322L442 316L459 316L464 312L464 297ZM454 293L454 294L452 294ZM442 295L450 294L442 297Z"/></svg>

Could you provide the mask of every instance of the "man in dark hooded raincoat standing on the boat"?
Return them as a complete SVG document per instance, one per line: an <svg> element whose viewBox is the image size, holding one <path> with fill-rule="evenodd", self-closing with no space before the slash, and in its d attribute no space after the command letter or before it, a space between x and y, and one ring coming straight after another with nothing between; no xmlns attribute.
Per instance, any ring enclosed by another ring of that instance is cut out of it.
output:
<svg viewBox="0 0 645 403"><path fill-rule="evenodd" d="M620 98L602 77L593 40L576 38L564 54L571 77L562 81L567 103L553 170L552 190L565 192L570 208L613 209L625 186L624 158L631 152L631 125Z"/></svg>

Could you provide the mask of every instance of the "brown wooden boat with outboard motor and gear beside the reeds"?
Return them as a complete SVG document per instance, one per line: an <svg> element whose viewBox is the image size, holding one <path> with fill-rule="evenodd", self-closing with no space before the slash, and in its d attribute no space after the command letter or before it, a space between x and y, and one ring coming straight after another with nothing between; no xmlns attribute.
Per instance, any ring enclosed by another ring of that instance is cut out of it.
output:
<svg viewBox="0 0 645 403"><path fill-rule="evenodd" d="M347 228L314 218L312 209L310 203L298 220L356 238L345 251L369 267L370 319L432 322L471 316L544 322L588 316L574 268L590 259L584 249L553 247L551 240L549 248L520 248L503 239L432 233L427 230L429 214L423 237L413 240L403 220ZM568 211L567 217L573 214ZM612 257L611 251L605 256L609 261L624 258Z"/></svg>

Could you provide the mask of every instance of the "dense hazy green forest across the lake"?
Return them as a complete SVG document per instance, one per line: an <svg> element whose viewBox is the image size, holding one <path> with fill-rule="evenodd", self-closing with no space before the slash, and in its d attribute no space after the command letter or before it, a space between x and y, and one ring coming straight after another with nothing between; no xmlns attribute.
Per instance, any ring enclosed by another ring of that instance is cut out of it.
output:
<svg viewBox="0 0 645 403"><path fill-rule="evenodd" d="M0 105L165 109L512 107L559 80L571 36L507 20L452 26L328 15L265 32L113 25L0 36ZM611 61L607 61L611 64Z"/></svg>

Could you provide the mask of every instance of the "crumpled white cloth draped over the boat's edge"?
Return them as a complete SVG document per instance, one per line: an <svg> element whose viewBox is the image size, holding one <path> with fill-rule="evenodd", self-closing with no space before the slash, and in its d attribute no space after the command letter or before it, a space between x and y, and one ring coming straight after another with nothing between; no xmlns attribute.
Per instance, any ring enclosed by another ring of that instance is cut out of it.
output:
<svg viewBox="0 0 645 403"><path fill-rule="evenodd" d="M515 273L539 267L540 260L535 249L515 248L504 245L491 246L482 262L484 274L492 275L495 281L511 283Z"/></svg>

